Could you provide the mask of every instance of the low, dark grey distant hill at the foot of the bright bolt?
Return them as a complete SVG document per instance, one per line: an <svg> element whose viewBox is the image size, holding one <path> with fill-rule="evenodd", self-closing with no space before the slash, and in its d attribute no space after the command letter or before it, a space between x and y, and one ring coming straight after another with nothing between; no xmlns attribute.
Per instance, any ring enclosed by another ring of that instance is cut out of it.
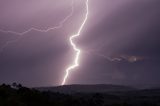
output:
<svg viewBox="0 0 160 106"><path fill-rule="evenodd" d="M111 85L111 84L95 84L95 85L64 85L57 87L39 87L36 88L40 91L51 91L51 92L61 92L61 93L107 93L107 92L122 92L122 91L132 91L136 88L122 85Z"/></svg>

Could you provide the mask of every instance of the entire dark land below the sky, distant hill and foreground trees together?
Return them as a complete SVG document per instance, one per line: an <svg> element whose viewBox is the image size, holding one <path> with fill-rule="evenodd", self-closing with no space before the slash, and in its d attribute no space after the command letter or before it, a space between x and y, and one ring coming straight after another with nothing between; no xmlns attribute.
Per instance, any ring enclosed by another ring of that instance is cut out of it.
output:
<svg viewBox="0 0 160 106"><path fill-rule="evenodd" d="M0 86L0 106L160 106L160 89L120 85Z"/></svg>

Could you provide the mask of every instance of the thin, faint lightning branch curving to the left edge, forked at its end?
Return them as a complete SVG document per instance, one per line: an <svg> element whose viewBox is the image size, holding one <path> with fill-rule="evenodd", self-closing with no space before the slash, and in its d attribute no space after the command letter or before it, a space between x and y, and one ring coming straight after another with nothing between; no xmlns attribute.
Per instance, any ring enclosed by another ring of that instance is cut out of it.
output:
<svg viewBox="0 0 160 106"><path fill-rule="evenodd" d="M7 41L1 48L0 52L3 52L4 48L6 48L9 44L11 43L14 43L14 42L17 42L19 41L25 34L31 32L31 31L37 31L37 32L49 32L50 30L55 30L55 29L59 29L59 28L62 28L64 23L73 15L73 12L74 12L74 7L73 7L73 0L72 0L72 3L71 3L71 12L55 27L49 27L47 29L38 29L38 28L30 28L24 32L15 32L15 31L7 31L7 30L3 30L3 29L0 29L0 32L2 33L11 33L11 34L15 34L15 35L19 35L19 37L15 40L11 40L11 41Z"/></svg>

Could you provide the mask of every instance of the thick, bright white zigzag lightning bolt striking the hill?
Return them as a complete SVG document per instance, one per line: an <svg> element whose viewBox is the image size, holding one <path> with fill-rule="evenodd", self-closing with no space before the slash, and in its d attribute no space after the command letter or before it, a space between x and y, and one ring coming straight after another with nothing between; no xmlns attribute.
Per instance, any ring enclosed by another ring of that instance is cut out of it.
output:
<svg viewBox="0 0 160 106"><path fill-rule="evenodd" d="M77 46L76 46L76 44L74 43L73 40L74 40L74 38L80 36L81 31L82 31L82 29L83 29L83 27L84 27L84 25L85 25L85 23L86 23L86 21L87 21L87 19L88 19L88 14L89 14L88 1L89 1L89 0L86 0L86 2L85 2L85 5L86 5L86 15L85 15L84 21L82 22L82 24L81 24L78 32L77 32L75 35L72 35L72 36L69 38L70 44L71 44L71 46L73 47L74 51L76 52L76 55L75 55L75 59L74 59L74 64L71 65L71 66L69 66L69 67L66 69L66 71L65 71L66 74L65 74L65 76L64 76L64 78L63 78L63 81L62 81L62 84L61 84L61 85L64 85L64 84L66 83L66 80L67 80L70 72L71 72L74 68L76 68L76 67L79 66L79 58L80 58L81 50L77 48Z"/></svg>

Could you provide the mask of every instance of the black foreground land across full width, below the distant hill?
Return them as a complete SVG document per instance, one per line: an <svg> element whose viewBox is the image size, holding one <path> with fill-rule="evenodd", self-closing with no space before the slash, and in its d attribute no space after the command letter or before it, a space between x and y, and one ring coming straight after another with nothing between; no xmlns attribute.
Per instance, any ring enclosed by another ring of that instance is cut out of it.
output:
<svg viewBox="0 0 160 106"><path fill-rule="evenodd" d="M160 90L62 94L2 84L0 106L160 106Z"/></svg>

